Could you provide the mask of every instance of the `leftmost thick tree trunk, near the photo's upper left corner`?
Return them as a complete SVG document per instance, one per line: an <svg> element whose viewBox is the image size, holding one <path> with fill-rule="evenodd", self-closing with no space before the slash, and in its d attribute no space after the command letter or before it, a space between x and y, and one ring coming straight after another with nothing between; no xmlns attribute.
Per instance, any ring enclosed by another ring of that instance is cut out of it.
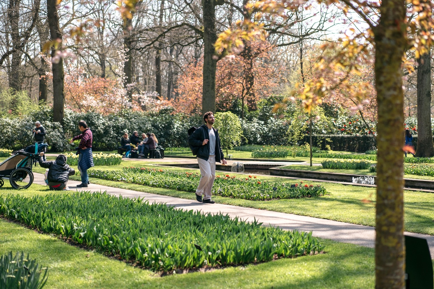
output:
<svg viewBox="0 0 434 289"><path fill-rule="evenodd" d="M9 0L7 16L10 23L10 38L12 40L12 48L16 49L12 53L12 61L9 75L9 87L15 91L20 91L23 85L21 75L21 57L23 53L18 47L21 44L20 36L20 0ZM14 110L14 104L12 104Z"/></svg>

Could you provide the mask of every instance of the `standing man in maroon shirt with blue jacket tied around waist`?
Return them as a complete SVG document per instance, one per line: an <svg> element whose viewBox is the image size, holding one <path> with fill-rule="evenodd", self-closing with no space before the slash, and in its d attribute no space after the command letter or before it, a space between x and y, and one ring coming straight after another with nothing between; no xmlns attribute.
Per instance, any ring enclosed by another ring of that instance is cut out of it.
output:
<svg viewBox="0 0 434 289"><path fill-rule="evenodd" d="M92 156L92 131L87 127L84 120L79 121L79 129L82 132L79 136L74 136L69 143L74 140L81 140L77 154L79 154L79 172L81 175L82 183L77 185L79 188L86 188L89 185L89 176L87 170L93 166Z"/></svg>

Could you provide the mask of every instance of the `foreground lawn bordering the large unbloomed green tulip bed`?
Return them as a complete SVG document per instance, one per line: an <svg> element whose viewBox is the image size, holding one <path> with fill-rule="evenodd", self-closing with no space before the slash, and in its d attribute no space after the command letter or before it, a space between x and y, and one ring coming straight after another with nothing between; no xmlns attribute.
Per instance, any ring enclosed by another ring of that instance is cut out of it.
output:
<svg viewBox="0 0 434 289"><path fill-rule="evenodd" d="M32 185L0 194L46 194L47 187ZM57 192L63 194L66 192ZM53 235L39 234L0 219L0 255L10 250L30 253L49 268L45 288L372 288L374 250L323 240L326 253L280 259L258 265L227 267L209 272L160 277L92 250L81 249Z"/></svg>

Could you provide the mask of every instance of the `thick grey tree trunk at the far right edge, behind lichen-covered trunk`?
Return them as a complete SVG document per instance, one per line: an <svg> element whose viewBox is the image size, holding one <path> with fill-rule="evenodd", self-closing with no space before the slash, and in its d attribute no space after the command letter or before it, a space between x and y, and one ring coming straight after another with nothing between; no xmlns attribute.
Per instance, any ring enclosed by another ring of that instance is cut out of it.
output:
<svg viewBox="0 0 434 289"><path fill-rule="evenodd" d="M431 129L431 49L418 60L418 145L415 156L434 156Z"/></svg>

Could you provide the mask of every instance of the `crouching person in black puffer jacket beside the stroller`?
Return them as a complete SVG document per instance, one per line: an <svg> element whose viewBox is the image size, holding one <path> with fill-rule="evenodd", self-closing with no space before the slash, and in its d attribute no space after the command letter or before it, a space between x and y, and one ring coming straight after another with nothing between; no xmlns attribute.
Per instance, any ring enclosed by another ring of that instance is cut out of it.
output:
<svg viewBox="0 0 434 289"><path fill-rule="evenodd" d="M63 190L66 188L69 176L74 175L76 171L66 164L66 156L59 155L55 161L44 161L41 153L39 156L39 165L49 169L47 180L50 190Z"/></svg>

